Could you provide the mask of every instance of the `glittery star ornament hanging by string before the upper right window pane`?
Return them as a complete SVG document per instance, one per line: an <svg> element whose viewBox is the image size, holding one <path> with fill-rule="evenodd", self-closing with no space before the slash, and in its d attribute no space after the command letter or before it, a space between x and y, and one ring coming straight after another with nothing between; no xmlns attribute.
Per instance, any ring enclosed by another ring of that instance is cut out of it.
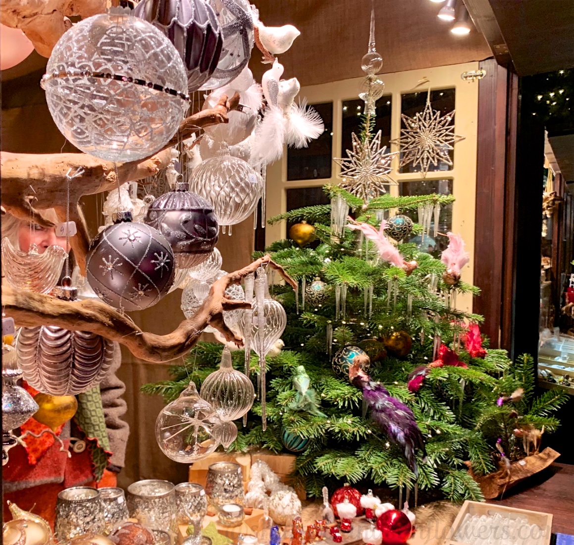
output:
<svg viewBox="0 0 574 545"><path fill-rule="evenodd" d="M440 110L433 110L428 98L422 113L418 112L414 117L401 114L405 129L401 129L400 138L391 140L391 144L401 146L401 167L409 163L413 167L418 165L422 176L426 177L431 163L436 167L439 161L444 161L452 166L448 152L455 149L456 142L464 140L464 136L455 134L453 117L455 110L441 117Z"/></svg>

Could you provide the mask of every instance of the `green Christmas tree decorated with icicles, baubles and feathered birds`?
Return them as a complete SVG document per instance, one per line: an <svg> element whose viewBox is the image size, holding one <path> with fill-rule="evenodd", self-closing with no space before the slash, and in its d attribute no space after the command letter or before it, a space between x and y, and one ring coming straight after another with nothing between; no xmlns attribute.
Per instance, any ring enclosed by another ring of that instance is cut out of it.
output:
<svg viewBox="0 0 574 545"><path fill-rule="evenodd" d="M356 222L374 226L380 223L381 211L452 202L452 197L441 195L382 195L365 203L340 188L326 190L333 202L342 198L350 205ZM288 320L284 349L267 358L267 429L262 430L261 405L256 403L247 426L238 423L231 450L261 446L274 452L296 451L294 484L304 486L309 496L320 497L321 487L335 480L366 479L391 488L440 488L450 500L463 500L482 497L465 461L471 462L475 474L490 473L501 460L500 450L510 460L526 455L523 440L513 434L515 428L556 429L559 423L551 413L567 396L548 391L534 399L532 359L524 356L513 363L503 350L482 349L477 327L465 326L482 317L453 306L454 293L478 293L477 288L460 279L453 284L447 266L414 243L397 245L404 261L416 262L412 272L382 262L362 231L331 227L329 205L286 212L270 222L286 219L312 222L319 245L301 248L284 240L267 249L292 277L305 279L307 289L296 295L290 287L272 286ZM422 227L414 225L413 231L421 232ZM320 281L309 284L317 278ZM346 346L363 347L370 356L371 378L412 409L426 443L426 458L416 453L417 476L401 447L364 414L360 389L340 368L339 376L333 371L333 357ZM169 401L189 380L199 388L217 368L221 352L222 345L200 343L186 365L172 368L172 381L143 389ZM242 369L243 351L234 351L232 358ZM251 364L254 377L255 356ZM315 392L307 392L306 400L298 399L300 366ZM510 400L519 388L521 395Z"/></svg>

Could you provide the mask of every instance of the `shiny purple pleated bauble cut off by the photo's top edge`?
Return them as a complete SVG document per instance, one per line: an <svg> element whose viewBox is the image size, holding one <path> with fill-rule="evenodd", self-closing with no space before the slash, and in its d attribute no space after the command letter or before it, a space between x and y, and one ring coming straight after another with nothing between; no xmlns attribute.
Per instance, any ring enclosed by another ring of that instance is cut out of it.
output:
<svg viewBox="0 0 574 545"><path fill-rule="evenodd" d="M210 79L219 63L223 34L205 0L143 0L134 15L152 23L175 46L185 64L190 93Z"/></svg>

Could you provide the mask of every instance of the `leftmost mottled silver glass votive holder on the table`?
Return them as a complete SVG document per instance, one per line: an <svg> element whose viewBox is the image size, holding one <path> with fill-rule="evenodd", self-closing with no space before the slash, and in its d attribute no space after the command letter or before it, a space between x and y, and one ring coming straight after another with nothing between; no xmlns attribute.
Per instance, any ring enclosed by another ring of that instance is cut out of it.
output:
<svg viewBox="0 0 574 545"><path fill-rule="evenodd" d="M73 486L58 494L54 529L60 543L83 534L102 534L105 528L99 490Z"/></svg>

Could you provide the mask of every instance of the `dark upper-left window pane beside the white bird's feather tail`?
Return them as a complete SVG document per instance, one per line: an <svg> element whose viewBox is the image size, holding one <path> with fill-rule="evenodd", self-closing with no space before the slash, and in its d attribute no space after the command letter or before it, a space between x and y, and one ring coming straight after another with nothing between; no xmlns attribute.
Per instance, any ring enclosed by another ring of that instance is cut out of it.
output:
<svg viewBox="0 0 574 545"><path fill-rule="evenodd" d="M325 130L307 148L287 151L287 179L313 180L331 177L331 148L333 142L333 103L323 102L312 105L323 119Z"/></svg>

